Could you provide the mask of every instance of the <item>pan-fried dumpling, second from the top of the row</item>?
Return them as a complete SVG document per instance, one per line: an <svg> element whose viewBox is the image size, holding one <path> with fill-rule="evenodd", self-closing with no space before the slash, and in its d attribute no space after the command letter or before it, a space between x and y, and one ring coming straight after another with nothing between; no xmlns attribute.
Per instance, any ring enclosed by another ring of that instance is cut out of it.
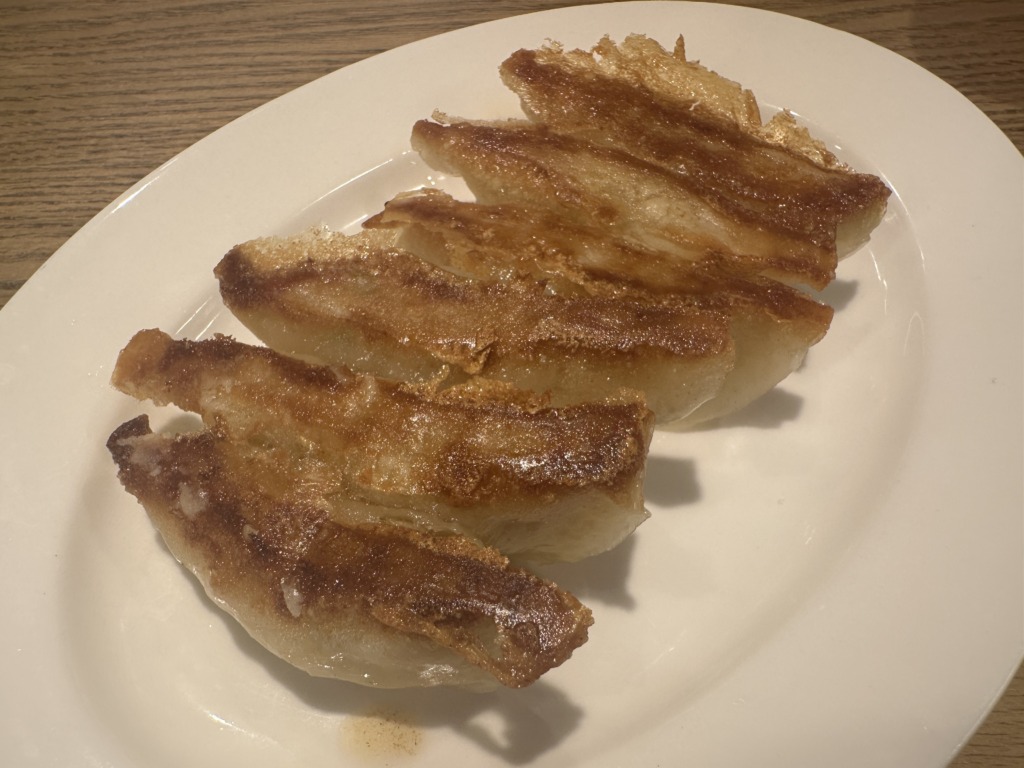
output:
<svg viewBox="0 0 1024 768"><path fill-rule="evenodd" d="M835 276L834 250L730 216L678 173L617 147L524 121L421 120L412 139L427 163L462 176L480 202L546 206L683 256L742 255L765 274L815 288Z"/></svg>

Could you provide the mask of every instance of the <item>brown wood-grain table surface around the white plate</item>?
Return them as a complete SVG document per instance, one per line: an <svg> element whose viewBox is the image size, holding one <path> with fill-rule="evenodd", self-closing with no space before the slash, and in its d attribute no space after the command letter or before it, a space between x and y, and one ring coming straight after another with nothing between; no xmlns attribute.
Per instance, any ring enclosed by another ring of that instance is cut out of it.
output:
<svg viewBox="0 0 1024 768"><path fill-rule="evenodd" d="M0 0L0 306L136 180L264 101L542 0ZM1024 147L1020 0L741 2L854 33L947 81ZM953 762L1024 765L1024 673Z"/></svg>

